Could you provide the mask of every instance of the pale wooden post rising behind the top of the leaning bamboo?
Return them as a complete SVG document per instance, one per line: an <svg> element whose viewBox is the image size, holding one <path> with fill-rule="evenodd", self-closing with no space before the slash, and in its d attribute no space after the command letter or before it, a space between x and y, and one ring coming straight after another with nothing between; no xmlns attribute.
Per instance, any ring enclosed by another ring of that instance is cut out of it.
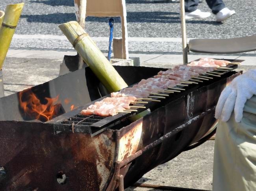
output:
<svg viewBox="0 0 256 191"><path fill-rule="evenodd" d="M87 0L74 0L76 20L83 29L85 27L86 3Z"/></svg>

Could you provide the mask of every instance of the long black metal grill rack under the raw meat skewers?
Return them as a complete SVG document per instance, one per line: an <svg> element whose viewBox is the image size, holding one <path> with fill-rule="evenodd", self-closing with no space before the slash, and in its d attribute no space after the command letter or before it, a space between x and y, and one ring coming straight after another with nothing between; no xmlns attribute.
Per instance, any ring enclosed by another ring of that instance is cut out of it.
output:
<svg viewBox="0 0 256 191"><path fill-rule="evenodd" d="M233 61L234 60L229 60L229 61ZM237 60L236 60L237 61ZM242 62L243 60L239 60L239 62ZM229 68L232 69L236 69L237 65L229 65ZM216 80L220 80L223 78L228 77L229 75L231 75L232 73L234 73L234 71L232 72L232 70L229 71L218 71L219 73L222 73L223 75L221 75L221 77L214 77L211 75L206 75L208 77L213 77L213 79L209 79L207 81L204 82L199 82L198 84L189 84L188 87L182 87L183 89L186 89L185 91L181 91L180 93L170 93L168 97L166 97L165 99L159 99L159 98L154 98L157 100L161 100L161 102L150 102L150 100L147 100L148 104L139 104L139 106L145 106L146 109L150 109L151 111L163 106L166 103L169 103L173 100L175 100L176 98L186 95L189 92L198 89L199 87L202 87L204 85L208 85L211 84L213 82L215 82ZM102 100L104 97L100 98L99 100ZM99 101L99 100L95 100ZM94 102L91 102L89 105L93 104ZM137 104L136 104L137 106ZM83 107L86 108L86 107ZM66 130L71 130L71 131L75 131L75 132L83 132L83 133L89 133L91 134L91 136L95 136L98 133L111 128L113 126L117 126L117 124L121 124L122 121L125 121L129 116L132 115L136 115L137 113L141 113L142 111L146 110L146 109L142 109L142 108L138 108L137 111L132 111L131 113L119 113L115 116L108 116L108 117L104 117L104 116L96 116L96 115L81 115L81 114L77 114L80 113L80 111L82 110L81 107L78 108L76 110L76 115L72 115L72 117L68 117L62 120L58 120L58 118L54 121L58 121L54 126L56 127L56 131L63 131L63 129Z"/></svg>

